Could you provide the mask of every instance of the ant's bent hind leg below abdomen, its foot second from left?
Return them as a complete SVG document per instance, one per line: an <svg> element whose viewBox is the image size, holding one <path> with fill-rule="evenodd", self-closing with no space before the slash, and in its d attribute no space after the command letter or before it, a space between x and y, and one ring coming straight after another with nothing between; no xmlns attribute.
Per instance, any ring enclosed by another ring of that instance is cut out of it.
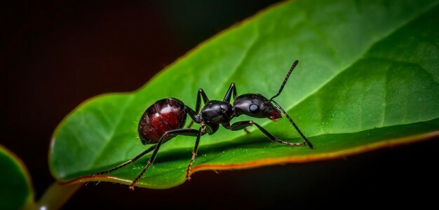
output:
<svg viewBox="0 0 439 210"><path fill-rule="evenodd" d="M167 141L170 139L170 137L175 137L177 135L182 136L190 136L190 137L197 137L198 136L198 130L195 129L176 129L176 130L170 130L163 134L160 139L158 139L158 142L156 146L154 147L154 151L151 154L151 157L149 157L149 160L147 162L147 165L144 167L142 172L140 172L139 176L136 177L136 179L131 183L130 190L134 190L135 183L142 178L143 174L147 171L147 169L154 163L154 160L156 160L156 155L158 152L158 149L160 148L163 141Z"/></svg>

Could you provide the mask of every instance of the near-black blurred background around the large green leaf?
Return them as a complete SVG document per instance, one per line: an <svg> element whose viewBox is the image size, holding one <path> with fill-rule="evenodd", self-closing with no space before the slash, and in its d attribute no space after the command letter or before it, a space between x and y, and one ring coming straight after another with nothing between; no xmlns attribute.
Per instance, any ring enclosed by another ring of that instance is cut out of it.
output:
<svg viewBox="0 0 439 210"><path fill-rule="evenodd" d="M0 142L32 176L36 199L53 183L50 136L74 107L133 91L201 41L276 1L59 1L1 6ZM437 139L436 139L437 140ZM389 207L434 204L437 141L345 159L198 172L182 186L81 188L65 209ZM434 192L434 191L433 191Z"/></svg>

